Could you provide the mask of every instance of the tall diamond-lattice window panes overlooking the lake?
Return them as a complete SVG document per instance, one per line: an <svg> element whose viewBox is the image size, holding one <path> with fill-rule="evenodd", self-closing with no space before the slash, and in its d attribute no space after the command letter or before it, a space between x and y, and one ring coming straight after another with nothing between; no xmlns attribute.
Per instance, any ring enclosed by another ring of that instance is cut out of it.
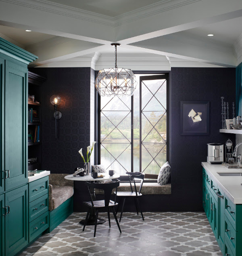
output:
<svg viewBox="0 0 242 256"><path fill-rule="evenodd" d="M169 159L169 73L136 79L131 97L98 95L98 163L121 176L159 174Z"/></svg>

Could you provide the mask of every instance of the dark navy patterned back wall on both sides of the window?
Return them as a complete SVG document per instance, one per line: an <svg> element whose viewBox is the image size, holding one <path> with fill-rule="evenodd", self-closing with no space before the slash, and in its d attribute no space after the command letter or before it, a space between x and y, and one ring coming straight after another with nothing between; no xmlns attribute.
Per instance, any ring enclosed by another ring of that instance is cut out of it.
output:
<svg viewBox="0 0 242 256"><path fill-rule="evenodd" d="M82 165L78 150L90 142L90 68L31 69L47 78L43 85L43 168L52 173L72 173ZM223 143L235 136L219 133L221 100L236 100L235 68L172 68L171 69L171 195L145 195L143 211L202 211L202 167L207 161L207 143ZM54 138L52 94L59 94L58 107L63 117L58 121L58 139ZM210 102L210 134L180 135L180 101ZM74 210L85 211L81 201L88 200L86 187L75 184ZM135 211L127 201L125 211Z"/></svg>

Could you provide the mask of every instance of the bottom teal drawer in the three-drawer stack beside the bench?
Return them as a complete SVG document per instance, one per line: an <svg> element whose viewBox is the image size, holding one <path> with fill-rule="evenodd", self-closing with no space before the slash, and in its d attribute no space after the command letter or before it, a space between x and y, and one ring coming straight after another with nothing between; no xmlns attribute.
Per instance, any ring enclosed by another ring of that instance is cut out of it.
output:
<svg viewBox="0 0 242 256"><path fill-rule="evenodd" d="M49 227L49 212L46 212L29 223L29 242L41 235Z"/></svg>

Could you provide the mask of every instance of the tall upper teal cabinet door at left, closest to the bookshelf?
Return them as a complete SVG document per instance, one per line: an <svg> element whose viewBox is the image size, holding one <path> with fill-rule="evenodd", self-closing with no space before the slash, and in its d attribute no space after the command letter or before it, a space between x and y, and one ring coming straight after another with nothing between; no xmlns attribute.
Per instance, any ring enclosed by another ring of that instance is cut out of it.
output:
<svg viewBox="0 0 242 256"><path fill-rule="evenodd" d="M27 68L5 65L5 190L27 183Z"/></svg>

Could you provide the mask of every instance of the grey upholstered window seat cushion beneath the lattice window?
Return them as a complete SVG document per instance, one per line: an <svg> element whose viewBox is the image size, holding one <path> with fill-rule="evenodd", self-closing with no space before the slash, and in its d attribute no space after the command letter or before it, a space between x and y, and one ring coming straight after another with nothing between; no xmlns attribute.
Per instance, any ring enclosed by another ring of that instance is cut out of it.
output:
<svg viewBox="0 0 242 256"><path fill-rule="evenodd" d="M139 188L139 183L137 183L137 190ZM129 192L130 184L129 183L120 183L118 191ZM95 193L103 194L103 191L100 189L95 189ZM170 195L171 194L171 183L160 186L156 182L144 182L142 186L142 195Z"/></svg>

